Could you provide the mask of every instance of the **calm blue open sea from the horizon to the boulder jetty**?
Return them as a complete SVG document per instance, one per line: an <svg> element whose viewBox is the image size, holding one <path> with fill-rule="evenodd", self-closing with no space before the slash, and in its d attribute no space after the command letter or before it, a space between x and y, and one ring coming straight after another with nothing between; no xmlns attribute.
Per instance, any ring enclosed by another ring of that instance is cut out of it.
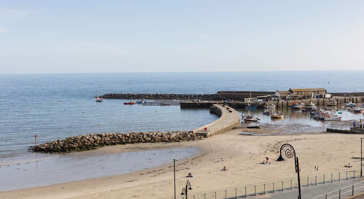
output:
<svg viewBox="0 0 364 199"><path fill-rule="evenodd" d="M111 99L96 103L95 91L216 93L324 87L350 92L362 91L363 77L364 71L0 74L0 164L45 157L27 152L34 134L40 144L86 133L191 130L217 118L208 109L130 106Z"/></svg>

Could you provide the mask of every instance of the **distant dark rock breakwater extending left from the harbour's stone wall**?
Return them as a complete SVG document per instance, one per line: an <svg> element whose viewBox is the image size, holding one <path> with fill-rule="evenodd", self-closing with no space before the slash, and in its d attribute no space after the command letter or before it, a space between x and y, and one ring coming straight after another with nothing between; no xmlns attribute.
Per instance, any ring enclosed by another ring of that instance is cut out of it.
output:
<svg viewBox="0 0 364 199"><path fill-rule="evenodd" d="M173 100L213 100L213 94L163 94L163 93L108 93L99 96L111 99L173 99Z"/></svg>

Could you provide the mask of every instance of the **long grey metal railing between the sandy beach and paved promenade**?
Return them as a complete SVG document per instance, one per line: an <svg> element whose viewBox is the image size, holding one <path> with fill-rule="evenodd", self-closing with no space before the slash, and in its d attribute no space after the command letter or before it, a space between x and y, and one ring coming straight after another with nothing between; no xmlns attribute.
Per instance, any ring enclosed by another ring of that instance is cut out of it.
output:
<svg viewBox="0 0 364 199"><path fill-rule="evenodd" d="M301 187L308 187L317 184L325 184L334 181L355 179L360 177L360 169L348 171L339 171L326 173L316 176L301 177ZM291 190L298 188L298 180L282 180L273 183L258 184L246 187L232 188L227 190L213 191L197 195L189 195L188 199L237 199L246 198L247 196L256 196L277 191ZM176 199L185 199L186 196L177 197ZM174 199L174 198L173 198Z"/></svg>

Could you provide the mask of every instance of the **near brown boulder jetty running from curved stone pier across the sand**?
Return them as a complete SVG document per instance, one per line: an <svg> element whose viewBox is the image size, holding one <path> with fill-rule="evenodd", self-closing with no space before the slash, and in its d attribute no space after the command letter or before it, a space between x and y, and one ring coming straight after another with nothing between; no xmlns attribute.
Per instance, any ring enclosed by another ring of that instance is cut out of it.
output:
<svg viewBox="0 0 364 199"><path fill-rule="evenodd" d="M52 141L31 147L29 151L43 153L69 153L87 151L106 145L137 144L137 143L172 143L179 141L202 140L203 135L189 131L169 132L131 132L131 133L101 133L67 137L64 140Z"/></svg>

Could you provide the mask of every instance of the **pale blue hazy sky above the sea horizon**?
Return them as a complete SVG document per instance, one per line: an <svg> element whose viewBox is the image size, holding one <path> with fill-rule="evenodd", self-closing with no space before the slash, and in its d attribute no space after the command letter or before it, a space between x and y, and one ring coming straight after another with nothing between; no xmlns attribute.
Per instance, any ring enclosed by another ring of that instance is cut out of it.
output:
<svg viewBox="0 0 364 199"><path fill-rule="evenodd" d="M364 1L0 0L0 73L363 70Z"/></svg>

